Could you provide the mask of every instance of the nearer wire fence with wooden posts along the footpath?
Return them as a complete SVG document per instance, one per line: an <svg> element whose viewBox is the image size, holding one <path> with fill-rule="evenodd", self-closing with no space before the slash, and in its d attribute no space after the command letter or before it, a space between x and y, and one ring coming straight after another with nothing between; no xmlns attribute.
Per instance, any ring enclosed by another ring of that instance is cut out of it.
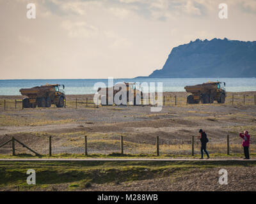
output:
<svg viewBox="0 0 256 204"><path fill-rule="evenodd" d="M18 139L19 138L19 139ZM129 136L112 136L110 138L95 138L93 135L84 135L70 138L60 138L58 136L42 136L39 139L26 136L2 138L0 143L0 154L29 154L34 153L36 156L52 156L53 154L110 154L112 156L124 156L129 154L148 154L151 156L196 156L200 154L200 142L196 136L188 138L186 143L166 144L161 136L154 136L154 141L150 143L133 143L129 141ZM223 137L222 143L213 143L209 139L207 150L209 154L222 154L222 156L235 156L243 154L239 138L234 141L230 135ZM28 144L29 143L29 144ZM250 153L255 154L255 143L250 144Z"/></svg>

